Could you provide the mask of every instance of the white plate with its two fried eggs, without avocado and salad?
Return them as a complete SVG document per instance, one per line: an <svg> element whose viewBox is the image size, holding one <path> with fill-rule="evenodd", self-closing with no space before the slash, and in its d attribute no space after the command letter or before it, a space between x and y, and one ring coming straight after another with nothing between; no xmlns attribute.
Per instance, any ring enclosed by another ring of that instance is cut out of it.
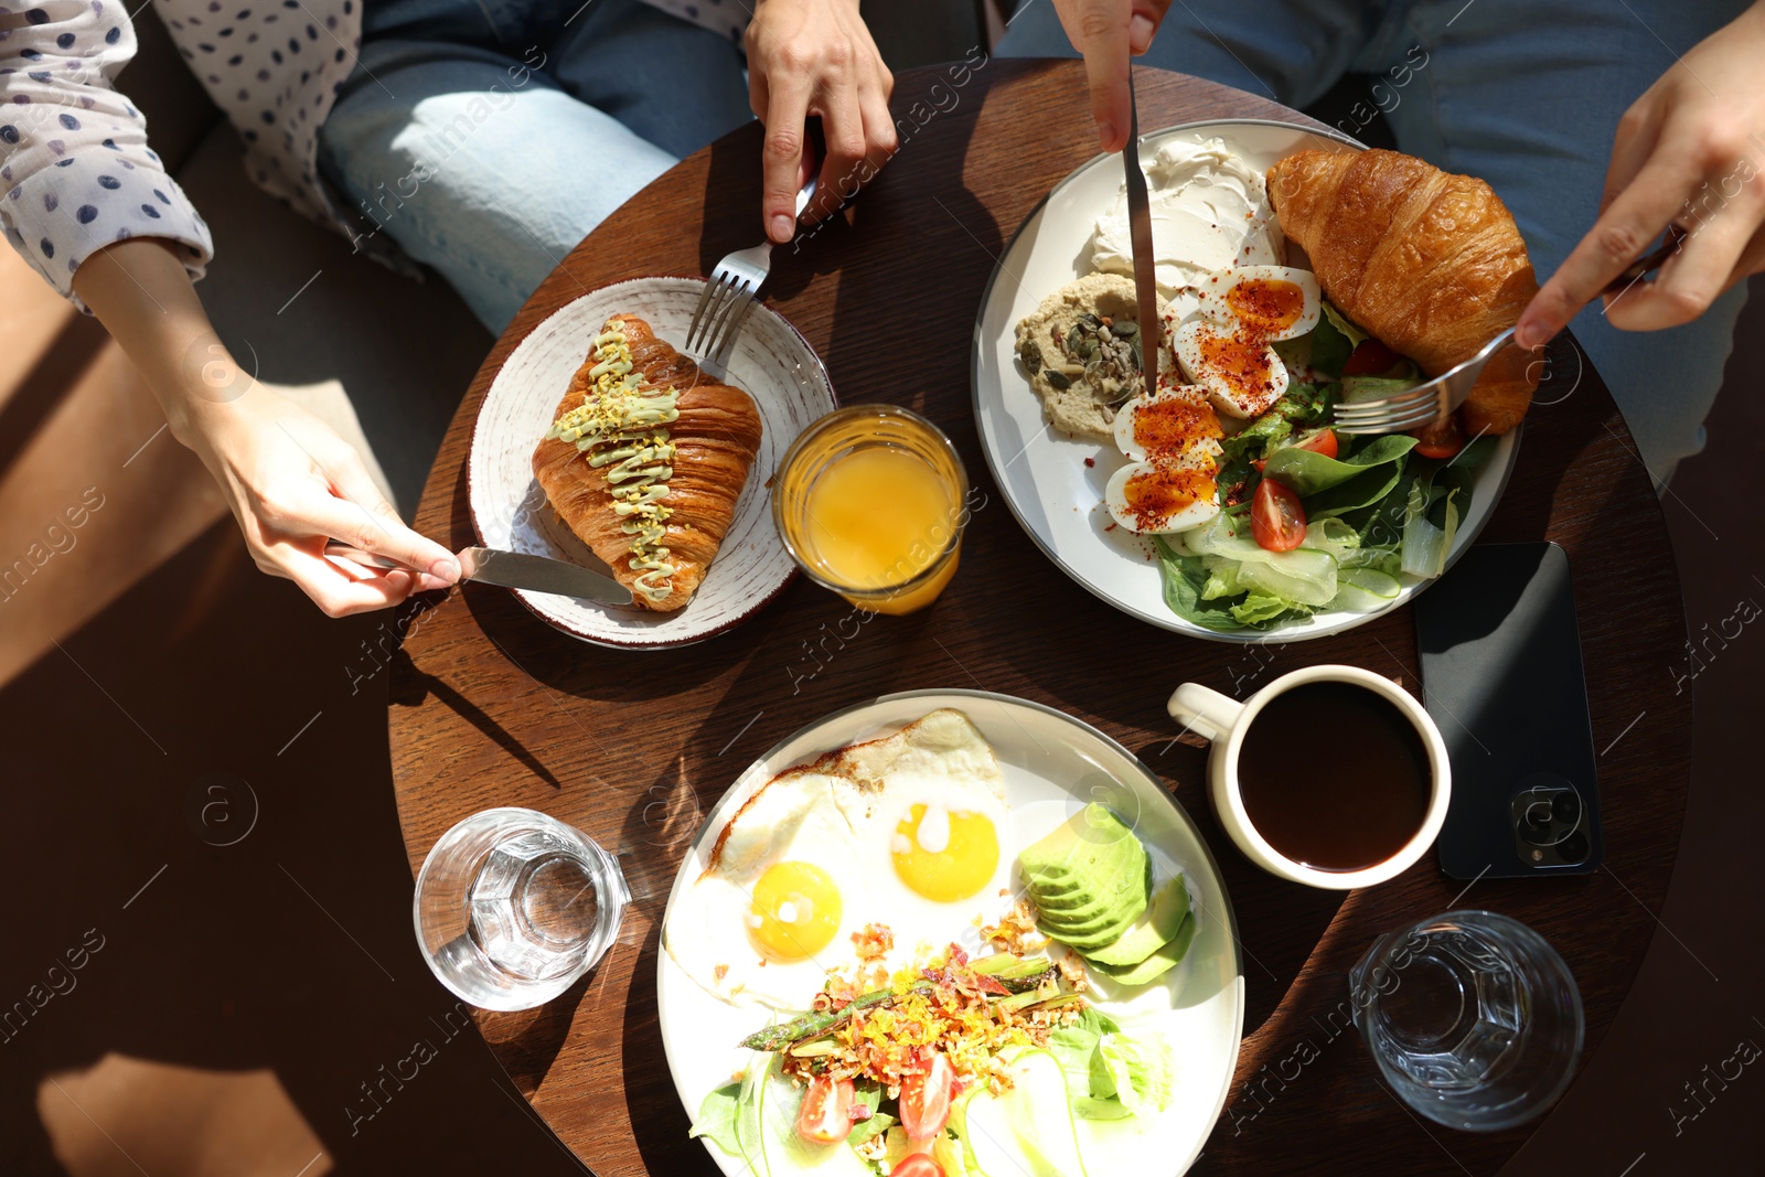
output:
<svg viewBox="0 0 1765 1177"><path fill-rule="evenodd" d="M886 695L830 715L748 766L706 817L669 893L657 965L662 1043L692 1117L750 1055L738 1043L805 1011L886 926L891 969L1022 896L1017 854L1103 803L1158 873L1183 873L1197 933L1151 985L1093 976L1093 1002L1156 1023L1175 1091L1158 1115L1080 1122L1091 1172L1181 1173L1225 1106L1244 985L1230 900L1188 813L1131 752L1052 708L976 690ZM867 935L872 937L867 941ZM747 1166L706 1142L722 1172Z"/></svg>

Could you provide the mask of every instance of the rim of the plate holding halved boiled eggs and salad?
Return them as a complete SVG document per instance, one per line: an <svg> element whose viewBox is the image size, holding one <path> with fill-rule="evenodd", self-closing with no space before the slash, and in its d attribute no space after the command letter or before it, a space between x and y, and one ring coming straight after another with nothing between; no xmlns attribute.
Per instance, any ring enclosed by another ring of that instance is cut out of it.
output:
<svg viewBox="0 0 1765 1177"><path fill-rule="evenodd" d="M1174 124L1168 127L1158 127L1156 131L1145 131L1140 134L1140 139L1142 141L1160 139L1165 136L1183 134L1190 131L1205 131L1209 127L1278 127L1281 131L1297 131L1303 134L1333 139L1357 152L1368 150L1364 143L1354 139L1352 136L1341 134L1340 131L1329 127L1308 127L1304 124L1285 122L1280 118L1202 118L1197 122ZM1036 528L1029 522L1029 519L1024 517L1024 512L1017 505L1017 498L1011 494L1010 484L1003 476L999 457L994 454L992 431L987 427L987 416L981 408L981 348L985 348L990 342L983 334L987 307L992 304L994 288L999 284L999 275L1006 272L1004 265L1006 259L1011 256L1011 249L1017 245L1017 240L1024 235L1024 229L1029 228L1031 221L1034 221L1043 212L1043 208L1047 208L1048 201L1052 201L1061 192L1061 189L1064 189L1068 184L1073 184L1073 180L1082 171L1096 168L1098 161L1112 157L1114 155L1107 152L1100 152L1098 155L1093 155L1085 162L1078 164L1070 173L1066 173L1066 176L1063 176L1059 184L1048 189L1048 192L1040 201L1036 201L1036 205L1027 214L1024 214L1024 219L1017 226L1017 231L1011 233L1011 240L1008 240L1004 244L1004 249L999 251L999 259L994 263L992 275L988 275L987 286L981 291L980 305L974 311L974 346L971 348L969 353L969 401L974 413L974 429L976 432L980 432L981 457L987 459L987 473L992 475L994 485L999 487L999 498L1004 499L1004 505L1011 512L1011 517L1017 519L1024 533L1036 544L1038 549L1041 549L1041 554L1047 556L1054 563L1054 566L1057 566L1061 572L1071 577L1078 586L1082 586L1093 596L1119 609L1121 612L1126 612L1131 618L1145 621L1147 625L1154 625L1161 630L1170 630L1174 633L1183 633L1184 637L1200 637L1204 641L1227 642L1236 646L1278 646L1287 642L1304 642L1315 637L1331 637L1334 633L1343 633L1356 626L1366 625L1375 618L1382 618L1393 609L1401 609L1440 577L1430 577L1426 581L1417 581L1414 584L1403 584L1403 588L1398 589L1398 595L1391 598L1391 603L1382 605L1380 609L1373 609L1370 612L1345 614L1336 618L1334 621L1317 623L1304 619L1304 621L1292 621L1273 630L1237 630L1237 632L1209 630L1205 626L1186 621L1184 618L1179 618L1170 609L1165 609L1165 614L1154 614L1142 611L1110 595L1110 591L1103 584L1094 582L1093 579L1085 577L1078 568L1070 565L1054 549L1052 542L1041 533L1038 533ZM1477 542L1477 536L1483 533L1483 528L1495 515L1495 508L1500 505L1502 494L1507 491L1507 480L1513 476L1514 466L1520 462L1520 441L1523 434L1525 434L1525 422L1521 422L1506 434L1507 461L1502 462L1502 469L1495 475L1495 487L1493 494L1490 496L1490 510L1484 512L1479 519L1476 519L1470 526L1460 526L1458 533L1453 536L1453 547L1451 551L1447 551L1446 566L1440 570L1440 575L1446 575L1453 568L1453 565L1458 563L1460 556L1470 551L1470 545ZM1495 461L1498 459L1491 457L1491 464Z"/></svg>

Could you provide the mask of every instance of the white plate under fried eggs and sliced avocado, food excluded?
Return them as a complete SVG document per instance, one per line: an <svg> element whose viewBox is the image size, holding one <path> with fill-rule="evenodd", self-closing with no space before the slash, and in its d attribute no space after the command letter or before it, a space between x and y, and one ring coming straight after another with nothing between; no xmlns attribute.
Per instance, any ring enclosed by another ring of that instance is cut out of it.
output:
<svg viewBox="0 0 1765 1177"><path fill-rule="evenodd" d="M1006 803L1013 812L1041 805L1052 829L1080 805L1101 801L1133 824L1160 875L1183 872L1198 925L1188 955L1160 981L1138 990L1131 1004L1112 999L1108 992L1098 993L1105 1009L1168 1011L1161 1015L1161 1029L1177 1059L1175 1096L1161 1117L1107 1124L1105 1129L1135 1126L1135 1131L1115 1136L1094 1136L1098 1126L1080 1121L1080 1145L1093 1173L1175 1177L1190 1166L1213 1131L1237 1066L1244 1029L1237 926L1220 870L1188 813L1151 769L1089 723L1036 702L980 690L916 690L830 715L775 746L731 785L680 865L667 912L704 870L704 858L724 821L766 780L833 748L895 732L937 708L957 708L980 727L1004 769ZM960 919L957 925L950 930L951 939L958 939L967 926ZM808 997L805 993L805 1001ZM669 1071L687 1115L694 1117L704 1096L727 1083L731 1073L747 1062L747 1052L736 1043L766 1025L770 1015L761 1006L718 1001L687 976L667 949L658 953L657 1006ZM704 1143L725 1173L745 1173L741 1159L725 1156L710 1140Z"/></svg>

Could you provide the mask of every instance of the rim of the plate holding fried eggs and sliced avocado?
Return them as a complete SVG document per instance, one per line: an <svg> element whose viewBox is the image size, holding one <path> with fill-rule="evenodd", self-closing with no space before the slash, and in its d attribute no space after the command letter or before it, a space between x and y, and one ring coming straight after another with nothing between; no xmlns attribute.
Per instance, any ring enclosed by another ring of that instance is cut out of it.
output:
<svg viewBox="0 0 1765 1177"><path fill-rule="evenodd" d="M1055 723L1068 723L1071 727L1077 727L1080 731L1080 734L1084 734L1084 736L1087 736L1091 739L1096 739L1105 748L1108 748L1110 752L1114 752L1119 757L1123 757L1123 761L1133 771L1137 771L1142 776L1142 782L1147 785L1147 789L1151 792L1154 792L1156 796L1160 796L1160 798L1165 799L1165 803L1174 812L1177 822L1184 829L1188 829L1190 836L1195 840L1195 845L1200 849L1200 852L1202 852L1202 863L1205 865L1207 872L1213 875L1213 884L1214 884L1214 888L1216 888L1216 891L1220 895L1218 907L1221 911L1216 912L1216 918L1221 919L1221 925L1225 928L1227 939L1232 944L1232 976L1236 979L1236 985L1230 986L1230 990L1232 990L1232 1015L1230 1015L1230 1020L1232 1020L1232 1050L1230 1050L1230 1055L1232 1057L1230 1057L1228 1064L1225 1066L1225 1073L1223 1073L1221 1082L1220 1082L1220 1091L1218 1091L1218 1096L1214 1098L1213 1113L1207 1117L1207 1131L1202 1133L1200 1138L1193 1142L1193 1147L1188 1152L1188 1156L1184 1156L1183 1161L1181 1161L1181 1165L1177 1165L1172 1170L1172 1177L1181 1177L1181 1173L1188 1172L1188 1168L1195 1163L1195 1158L1200 1156L1202 1149L1207 1145L1207 1138L1213 1135L1213 1129L1218 1128L1220 1115L1225 1112L1227 1099L1232 1094L1232 1082L1234 1082L1234 1078L1237 1075L1237 1061L1239 1061L1239 1057L1243 1055L1243 1050L1244 1050L1244 1006L1246 1006L1246 1001L1244 1001L1244 948L1243 948L1243 941L1237 935L1237 911L1232 907L1232 896L1227 891L1225 875L1220 872L1220 861L1214 858L1213 847L1207 845L1207 838L1202 836L1202 831L1195 824L1195 819L1190 817L1190 812L1183 806L1181 801L1177 801L1175 794L1165 785L1165 782L1158 776L1158 773L1154 773L1126 745L1123 745L1119 739L1115 739L1108 732L1098 729L1096 725L1093 725L1093 723L1089 723L1089 722L1085 722L1085 720L1082 720L1082 718L1078 718L1075 715L1061 711L1059 708L1048 706L1045 702L1036 702L1034 699L1024 699L1020 695L1006 695L1006 693L992 692L992 690L974 690L974 688L965 688L965 686L927 686L927 688L920 688L920 690L900 690L900 692L891 692L888 695L877 695L875 699L867 699L863 702L854 702L851 706L840 708L838 711L830 711L828 715L822 715L822 716L819 716L819 718L815 718L815 720L812 720L812 722L798 727L789 736L785 736L784 739L777 741L771 748L768 748L764 755L761 755L761 757L754 759L750 764L747 764L740 773L736 773L736 776L731 782L731 785L724 791L724 796L717 799L717 805L713 805L711 810L704 815L704 821L701 822L699 831L694 833L692 842L687 843L687 849L681 854L680 868L674 872L674 882L669 886L667 903L664 903L664 907L662 907L662 918L657 923L657 930L658 930L658 937L657 937L657 1032L662 1036L662 1055L667 1061L669 1078L674 1080L674 1092L680 1096L681 1106L687 1110L688 1119L694 1117L694 1115L697 1115L697 1108L692 1106L692 1101L690 1101L692 1096L685 1089L685 1085L681 1083L680 1069L674 1066L674 1055L669 1050L669 1039L671 1039L669 1038L669 1013L667 1013L669 1011L669 1002L665 1001L665 995L664 995L664 992L665 992L664 990L664 986L665 986L665 979L664 978L665 978L667 958L669 956L667 956L667 948L664 948L662 942L660 942L660 939L662 939L660 932L662 932L662 928L667 926L667 912L674 907L674 900L680 896L681 889L688 882L687 881L687 872L692 866L694 854L699 851L701 843L704 843L704 840L710 836L710 833L722 824L722 821L729 813L729 810L734 808L740 801L745 801L747 796L752 794L752 789L738 789L738 785L741 785L750 776L757 776L761 773L771 775L771 773L784 771L785 768L791 768L791 764L771 766L771 761L775 757L778 757L792 743L812 736L821 727L835 725L840 720L851 718L851 716L854 716L858 713L863 713L863 711L868 711L868 709L874 709L874 708L884 708L888 704L898 704L898 702L905 702L905 701L914 701L914 699L925 701L927 704L930 704L932 709L935 709L937 706L953 706L953 708L960 709L962 701L965 701L965 699L969 699L969 701L983 701L983 702L990 702L990 704L997 704L997 706L1006 706L1006 708L1027 708L1031 711L1040 711L1041 715L1055 720ZM935 702L934 704L932 701L946 701L946 702ZM822 752L830 752L830 750L831 748L822 748ZM711 1161L718 1168L722 1168L725 1173L740 1173L740 1168L731 1168L731 1165L740 1165L740 1161L736 1158L724 1156L708 1138L701 1138L699 1143L704 1145L704 1149L710 1154Z"/></svg>

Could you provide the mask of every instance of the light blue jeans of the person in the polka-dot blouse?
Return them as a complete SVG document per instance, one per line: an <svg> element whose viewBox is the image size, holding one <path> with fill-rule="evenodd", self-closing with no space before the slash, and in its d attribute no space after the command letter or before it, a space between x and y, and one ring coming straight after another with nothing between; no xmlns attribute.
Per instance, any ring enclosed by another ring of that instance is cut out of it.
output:
<svg viewBox="0 0 1765 1177"><path fill-rule="evenodd" d="M319 166L492 334L614 208L752 118L740 46L639 0L369 0L360 58Z"/></svg>

